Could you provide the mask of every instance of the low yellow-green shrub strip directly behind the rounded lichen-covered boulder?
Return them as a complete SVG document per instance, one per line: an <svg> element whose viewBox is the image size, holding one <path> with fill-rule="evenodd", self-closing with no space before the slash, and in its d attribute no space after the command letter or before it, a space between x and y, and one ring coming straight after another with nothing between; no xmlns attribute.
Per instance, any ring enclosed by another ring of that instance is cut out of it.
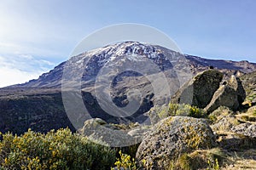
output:
<svg viewBox="0 0 256 170"><path fill-rule="evenodd" d="M206 117L206 112L202 109L189 104L172 104L168 105L168 109L163 109L158 114L160 119L167 116L192 116L196 118Z"/></svg>

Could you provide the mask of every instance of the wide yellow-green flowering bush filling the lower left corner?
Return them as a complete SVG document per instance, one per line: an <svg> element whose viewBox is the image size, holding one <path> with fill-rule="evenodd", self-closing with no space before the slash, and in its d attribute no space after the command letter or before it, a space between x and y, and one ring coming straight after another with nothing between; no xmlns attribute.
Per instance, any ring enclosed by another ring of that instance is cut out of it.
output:
<svg viewBox="0 0 256 170"><path fill-rule="evenodd" d="M1 134L0 169L109 169L115 151L68 128Z"/></svg>

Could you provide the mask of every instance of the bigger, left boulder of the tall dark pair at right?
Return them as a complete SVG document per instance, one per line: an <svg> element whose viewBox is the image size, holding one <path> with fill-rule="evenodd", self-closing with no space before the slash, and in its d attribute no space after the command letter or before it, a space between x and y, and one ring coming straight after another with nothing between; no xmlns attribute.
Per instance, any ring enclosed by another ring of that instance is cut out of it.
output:
<svg viewBox="0 0 256 170"><path fill-rule="evenodd" d="M172 97L172 103L206 107L219 88L223 77L224 74L217 70L202 71L177 91L177 94Z"/></svg>

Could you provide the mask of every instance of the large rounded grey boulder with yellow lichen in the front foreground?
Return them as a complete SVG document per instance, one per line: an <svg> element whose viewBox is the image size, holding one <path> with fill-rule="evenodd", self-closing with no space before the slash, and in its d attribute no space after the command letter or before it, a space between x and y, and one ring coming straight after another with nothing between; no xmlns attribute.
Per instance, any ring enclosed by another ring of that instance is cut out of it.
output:
<svg viewBox="0 0 256 170"><path fill-rule="evenodd" d="M137 161L146 169L168 169L181 154L213 145L215 136L202 119L167 117L146 133L137 150Z"/></svg>

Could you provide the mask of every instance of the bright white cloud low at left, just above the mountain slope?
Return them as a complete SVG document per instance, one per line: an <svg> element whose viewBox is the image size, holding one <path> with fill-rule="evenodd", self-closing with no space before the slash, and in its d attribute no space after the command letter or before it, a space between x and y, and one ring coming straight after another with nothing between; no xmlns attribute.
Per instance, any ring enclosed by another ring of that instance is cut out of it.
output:
<svg viewBox="0 0 256 170"><path fill-rule="evenodd" d="M0 56L0 88L36 79L53 66L53 63L31 55Z"/></svg>

